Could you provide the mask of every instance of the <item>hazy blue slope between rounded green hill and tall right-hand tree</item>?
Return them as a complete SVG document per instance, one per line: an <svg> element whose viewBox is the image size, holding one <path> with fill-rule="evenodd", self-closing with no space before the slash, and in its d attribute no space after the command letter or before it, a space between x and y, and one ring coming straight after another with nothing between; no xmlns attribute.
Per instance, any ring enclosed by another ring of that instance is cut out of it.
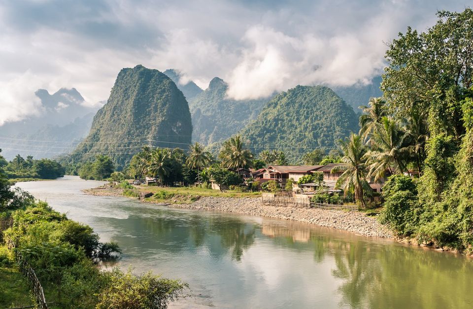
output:
<svg viewBox="0 0 473 309"><path fill-rule="evenodd" d="M381 76L375 76L368 85L353 85L349 87L331 87L335 93L353 107L355 113L361 114L358 106L367 105L370 98L382 97L383 92L379 89Z"/></svg>

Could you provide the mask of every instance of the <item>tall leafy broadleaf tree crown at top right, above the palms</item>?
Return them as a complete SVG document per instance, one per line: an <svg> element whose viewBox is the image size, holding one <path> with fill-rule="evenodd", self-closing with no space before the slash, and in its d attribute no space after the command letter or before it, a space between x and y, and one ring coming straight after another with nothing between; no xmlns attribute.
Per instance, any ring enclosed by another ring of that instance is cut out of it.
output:
<svg viewBox="0 0 473 309"><path fill-rule="evenodd" d="M457 140L465 133L461 102L473 85L473 10L439 11L424 33L407 28L386 52L381 89L391 111L427 111L429 130Z"/></svg>

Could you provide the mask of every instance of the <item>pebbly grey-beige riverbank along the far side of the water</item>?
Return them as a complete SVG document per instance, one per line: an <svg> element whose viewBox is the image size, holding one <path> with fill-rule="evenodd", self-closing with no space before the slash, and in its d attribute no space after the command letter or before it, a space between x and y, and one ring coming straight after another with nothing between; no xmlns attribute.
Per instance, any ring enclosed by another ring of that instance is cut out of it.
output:
<svg viewBox="0 0 473 309"><path fill-rule="evenodd" d="M83 190L96 196L124 196L122 189L104 186L102 189ZM218 191L217 191L218 192ZM194 210L223 211L245 215L271 217L315 224L323 227L352 232L361 236L394 239L394 235L376 217L358 211L327 210L320 208L276 207L263 205L261 198L248 197L200 197L192 203L173 203L171 197L166 200L169 207ZM140 201L150 204L162 204L164 200L155 200L142 196Z"/></svg>

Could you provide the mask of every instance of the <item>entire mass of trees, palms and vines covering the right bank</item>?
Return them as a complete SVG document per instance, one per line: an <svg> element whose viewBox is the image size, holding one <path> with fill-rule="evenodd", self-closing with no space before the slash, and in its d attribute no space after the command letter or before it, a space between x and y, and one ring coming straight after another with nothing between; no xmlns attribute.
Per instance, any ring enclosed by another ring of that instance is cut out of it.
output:
<svg viewBox="0 0 473 309"><path fill-rule="evenodd" d="M342 143L342 161L345 180L394 174L381 221L400 236L472 251L473 11L438 17L426 32L407 28L390 43L384 98L364 108L361 136ZM366 186L352 184L363 199Z"/></svg>

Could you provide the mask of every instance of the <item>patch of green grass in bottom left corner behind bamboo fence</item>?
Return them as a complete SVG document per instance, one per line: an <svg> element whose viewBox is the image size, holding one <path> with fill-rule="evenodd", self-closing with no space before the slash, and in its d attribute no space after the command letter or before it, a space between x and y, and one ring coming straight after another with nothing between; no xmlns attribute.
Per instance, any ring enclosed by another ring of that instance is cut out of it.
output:
<svg viewBox="0 0 473 309"><path fill-rule="evenodd" d="M34 304L34 296L25 277L16 268L0 267L0 308Z"/></svg>

